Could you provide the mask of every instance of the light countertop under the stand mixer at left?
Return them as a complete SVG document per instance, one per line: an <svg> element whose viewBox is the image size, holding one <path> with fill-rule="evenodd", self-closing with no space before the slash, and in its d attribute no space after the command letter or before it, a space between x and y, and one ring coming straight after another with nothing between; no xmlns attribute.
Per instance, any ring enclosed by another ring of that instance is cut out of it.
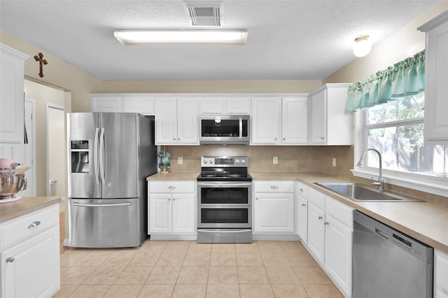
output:
<svg viewBox="0 0 448 298"><path fill-rule="evenodd" d="M58 204L60 197L22 197L19 201L0 204L0 223Z"/></svg>

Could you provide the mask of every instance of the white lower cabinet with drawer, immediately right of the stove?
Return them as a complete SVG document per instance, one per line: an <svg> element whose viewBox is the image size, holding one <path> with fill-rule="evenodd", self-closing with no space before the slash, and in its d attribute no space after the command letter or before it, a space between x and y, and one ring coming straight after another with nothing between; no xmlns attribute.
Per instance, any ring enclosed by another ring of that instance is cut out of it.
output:
<svg viewBox="0 0 448 298"><path fill-rule="evenodd" d="M294 183L255 182L254 233L294 232Z"/></svg>

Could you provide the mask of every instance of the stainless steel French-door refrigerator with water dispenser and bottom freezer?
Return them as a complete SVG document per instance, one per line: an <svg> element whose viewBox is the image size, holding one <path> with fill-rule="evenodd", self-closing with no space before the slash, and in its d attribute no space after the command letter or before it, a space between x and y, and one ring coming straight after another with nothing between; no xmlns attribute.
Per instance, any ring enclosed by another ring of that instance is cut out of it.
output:
<svg viewBox="0 0 448 298"><path fill-rule="evenodd" d="M157 173L154 117L69 113L67 129L69 246L140 246L148 237L146 177Z"/></svg>

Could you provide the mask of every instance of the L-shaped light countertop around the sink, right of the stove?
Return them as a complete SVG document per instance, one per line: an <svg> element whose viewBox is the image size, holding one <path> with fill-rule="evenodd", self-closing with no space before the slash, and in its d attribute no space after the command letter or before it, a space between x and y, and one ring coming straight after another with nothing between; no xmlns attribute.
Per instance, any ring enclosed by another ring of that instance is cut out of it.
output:
<svg viewBox="0 0 448 298"><path fill-rule="evenodd" d="M342 203L384 222L413 238L448 253L448 207L426 201L421 202L381 202L352 201L331 192L315 182L353 182L323 173L270 172L251 173L253 180L295 180ZM417 198L419 199L419 198Z"/></svg>

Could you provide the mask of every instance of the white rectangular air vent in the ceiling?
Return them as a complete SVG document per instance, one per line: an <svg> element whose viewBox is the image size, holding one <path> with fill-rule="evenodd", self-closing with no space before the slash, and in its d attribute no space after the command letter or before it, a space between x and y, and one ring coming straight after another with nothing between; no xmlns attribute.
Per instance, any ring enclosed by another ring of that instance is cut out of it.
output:
<svg viewBox="0 0 448 298"><path fill-rule="evenodd" d="M221 26L223 2L186 1L185 6L193 26Z"/></svg>

